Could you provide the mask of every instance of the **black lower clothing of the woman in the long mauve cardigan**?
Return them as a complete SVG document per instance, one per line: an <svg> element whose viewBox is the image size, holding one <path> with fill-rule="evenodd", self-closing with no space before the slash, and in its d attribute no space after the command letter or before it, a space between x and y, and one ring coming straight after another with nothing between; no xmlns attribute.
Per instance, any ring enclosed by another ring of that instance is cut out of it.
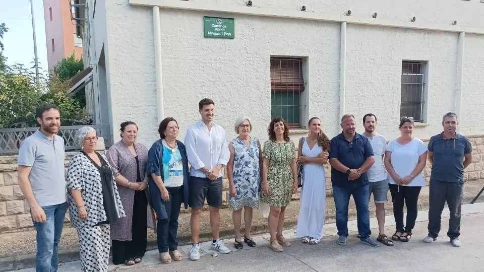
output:
<svg viewBox="0 0 484 272"><path fill-rule="evenodd" d="M131 241L112 240L112 262L114 264L143 257L146 252L148 235L148 199L144 191L136 191L133 202L133 222L131 223Z"/></svg>

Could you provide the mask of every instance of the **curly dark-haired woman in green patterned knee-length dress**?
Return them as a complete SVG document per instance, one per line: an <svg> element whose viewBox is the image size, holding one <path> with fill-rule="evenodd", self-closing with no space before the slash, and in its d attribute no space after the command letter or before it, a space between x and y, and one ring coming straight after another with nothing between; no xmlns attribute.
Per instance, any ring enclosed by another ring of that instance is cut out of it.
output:
<svg viewBox="0 0 484 272"><path fill-rule="evenodd" d="M284 250L281 245L291 245L282 236L282 230L286 206L297 190L296 149L289 140L289 129L281 117L274 118L267 130L269 141L264 143L262 151L261 202L271 209L268 218L271 233L269 246L281 252Z"/></svg>

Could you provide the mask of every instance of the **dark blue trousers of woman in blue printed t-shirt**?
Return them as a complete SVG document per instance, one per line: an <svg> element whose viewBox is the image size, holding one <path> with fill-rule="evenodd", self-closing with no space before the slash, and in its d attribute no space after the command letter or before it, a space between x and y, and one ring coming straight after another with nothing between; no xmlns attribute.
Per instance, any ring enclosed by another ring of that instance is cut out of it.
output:
<svg viewBox="0 0 484 272"><path fill-rule="evenodd" d="M157 243L159 252L174 251L178 248L178 216L180 214L181 201L183 201L183 186L167 187L170 200L165 202L167 219L158 219L156 227Z"/></svg>

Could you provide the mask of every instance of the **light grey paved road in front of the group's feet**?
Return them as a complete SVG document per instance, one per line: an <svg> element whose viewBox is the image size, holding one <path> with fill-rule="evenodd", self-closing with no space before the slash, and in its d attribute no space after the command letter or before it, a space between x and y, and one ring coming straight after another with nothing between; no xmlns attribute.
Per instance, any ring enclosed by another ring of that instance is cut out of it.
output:
<svg viewBox="0 0 484 272"><path fill-rule="evenodd" d="M394 247L381 245L372 248L359 243L356 238L356 222L349 222L351 232L348 243L339 246L334 224L325 226L325 238L318 245L306 245L287 231L292 245L283 253L275 253L268 247L268 235L256 238L258 247L235 250L229 254L212 257L208 244L201 245L202 257L198 261L183 259L171 264L162 264L156 251L147 252L143 262L131 267L110 265L111 270L120 271L484 271L484 203L463 206L461 241L463 247L454 248L445 236L432 243L421 241L427 235L428 213L419 212L414 236L407 243L396 242ZM448 216L448 211L444 213ZM393 216L387 217L386 232L394 232ZM377 226L372 219L372 226ZM448 227L448 218L443 219L442 229ZM373 230L376 236L377 230ZM390 236L390 235L389 235ZM232 241L226 241L232 249ZM181 247L188 257L189 247ZM65 263L59 272L79 271L79 262ZM24 269L21 271L32 271Z"/></svg>

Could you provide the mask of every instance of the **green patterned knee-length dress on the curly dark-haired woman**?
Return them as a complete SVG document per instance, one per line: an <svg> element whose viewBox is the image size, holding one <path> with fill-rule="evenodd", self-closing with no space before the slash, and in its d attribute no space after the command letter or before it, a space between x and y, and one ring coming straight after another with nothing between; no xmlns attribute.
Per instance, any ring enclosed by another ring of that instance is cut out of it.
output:
<svg viewBox="0 0 484 272"><path fill-rule="evenodd" d="M294 142L276 143L271 140L264 143L262 157L269 159L267 181L269 182L269 195L263 192L261 186L261 202L270 207L286 207L292 197L292 184L294 175L291 169L291 160L296 157Z"/></svg>

